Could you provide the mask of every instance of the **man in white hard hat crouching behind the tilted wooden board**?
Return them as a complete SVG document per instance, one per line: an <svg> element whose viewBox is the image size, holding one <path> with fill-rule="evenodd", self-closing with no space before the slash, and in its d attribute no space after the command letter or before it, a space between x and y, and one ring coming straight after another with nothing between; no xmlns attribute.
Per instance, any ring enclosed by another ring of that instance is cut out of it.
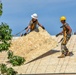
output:
<svg viewBox="0 0 76 75"><path fill-rule="evenodd" d="M29 31L33 31L37 28L37 25L45 29L39 22L38 22L38 15L36 13L31 15L32 20L30 21L28 28L26 29L26 33Z"/></svg>

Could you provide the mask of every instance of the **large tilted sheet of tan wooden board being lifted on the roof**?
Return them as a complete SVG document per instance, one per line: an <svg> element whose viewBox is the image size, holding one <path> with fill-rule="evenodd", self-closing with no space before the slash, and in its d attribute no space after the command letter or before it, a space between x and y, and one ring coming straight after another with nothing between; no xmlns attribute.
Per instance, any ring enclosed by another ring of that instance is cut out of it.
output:
<svg viewBox="0 0 76 75"><path fill-rule="evenodd" d="M39 27L39 32L32 31L26 36L13 40L9 49L15 55L25 57L28 62L53 49L56 45L57 42L50 34Z"/></svg>

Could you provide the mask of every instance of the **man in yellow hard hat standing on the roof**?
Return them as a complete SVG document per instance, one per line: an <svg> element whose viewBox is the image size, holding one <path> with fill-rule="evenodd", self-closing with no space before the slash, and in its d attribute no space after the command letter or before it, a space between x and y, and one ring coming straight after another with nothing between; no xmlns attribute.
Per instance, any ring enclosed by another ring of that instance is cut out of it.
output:
<svg viewBox="0 0 76 75"><path fill-rule="evenodd" d="M62 16L60 18L60 21L62 23L62 26L60 28L62 28L63 31L60 32L59 34L57 34L56 37L59 36L59 35L63 35L63 40L62 40L62 43L61 43L61 52L62 52L62 54L58 58L64 58L65 56L70 55L69 50L66 47L66 44L67 44L67 42L69 41L69 39L71 37L72 29L69 26L69 24L66 23L66 17L65 16Z"/></svg>

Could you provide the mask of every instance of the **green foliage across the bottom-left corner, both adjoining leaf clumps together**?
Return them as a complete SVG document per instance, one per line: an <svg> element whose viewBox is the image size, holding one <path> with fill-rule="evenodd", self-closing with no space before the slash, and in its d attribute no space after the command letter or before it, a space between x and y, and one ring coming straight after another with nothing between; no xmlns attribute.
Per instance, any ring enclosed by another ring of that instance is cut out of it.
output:
<svg viewBox="0 0 76 75"><path fill-rule="evenodd" d="M14 69L12 67L7 68L7 66L5 64L0 64L0 71L1 74L6 74L6 75L16 75L17 72L14 71Z"/></svg>

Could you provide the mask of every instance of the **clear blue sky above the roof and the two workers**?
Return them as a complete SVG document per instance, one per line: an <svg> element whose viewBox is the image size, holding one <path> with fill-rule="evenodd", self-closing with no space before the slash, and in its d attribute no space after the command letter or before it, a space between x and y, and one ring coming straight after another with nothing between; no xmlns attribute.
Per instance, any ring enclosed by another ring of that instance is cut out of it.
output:
<svg viewBox="0 0 76 75"><path fill-rule="evenodd" d="M39 23L51 35L62 31L61 16L66 16L72 31L76 31L76 0L2 0L2 3L0 23L7 23L13 35L28 26L33 13L38 14Z"/></svg>

